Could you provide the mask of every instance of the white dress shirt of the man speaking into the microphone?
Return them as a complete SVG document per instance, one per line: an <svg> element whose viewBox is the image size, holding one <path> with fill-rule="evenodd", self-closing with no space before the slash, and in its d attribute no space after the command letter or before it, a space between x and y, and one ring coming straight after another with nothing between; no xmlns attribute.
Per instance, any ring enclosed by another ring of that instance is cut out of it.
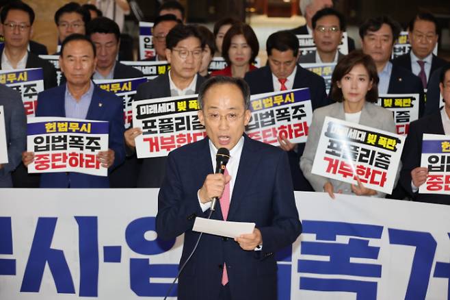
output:
<svg viewBox="0 0 450 300"><path fill-rule="evenodd" d="M230 150L230 160L228 160L228 164L226 164L226 170L228 171L228 174L231 176L230 201L233 197L233 188L235 187L237 169L239 168L239 162L241 161L242 148L243 148L243 136L239 139L239 142L237 142L235 147L233 147L233 149ZM215 155L217 155L217 149L215 148L211 140L209 140L209 152L211 153L211 161L213 162L213 169L211 170L211 173L214 173L216 164ZM198 202L200 203L200 208L202 208L203 212L206 212L207 210L209 210L209 208L211 208L211 201L208 201L207 203L202 203L200 201L200 197L198 197Z"/></svg>

